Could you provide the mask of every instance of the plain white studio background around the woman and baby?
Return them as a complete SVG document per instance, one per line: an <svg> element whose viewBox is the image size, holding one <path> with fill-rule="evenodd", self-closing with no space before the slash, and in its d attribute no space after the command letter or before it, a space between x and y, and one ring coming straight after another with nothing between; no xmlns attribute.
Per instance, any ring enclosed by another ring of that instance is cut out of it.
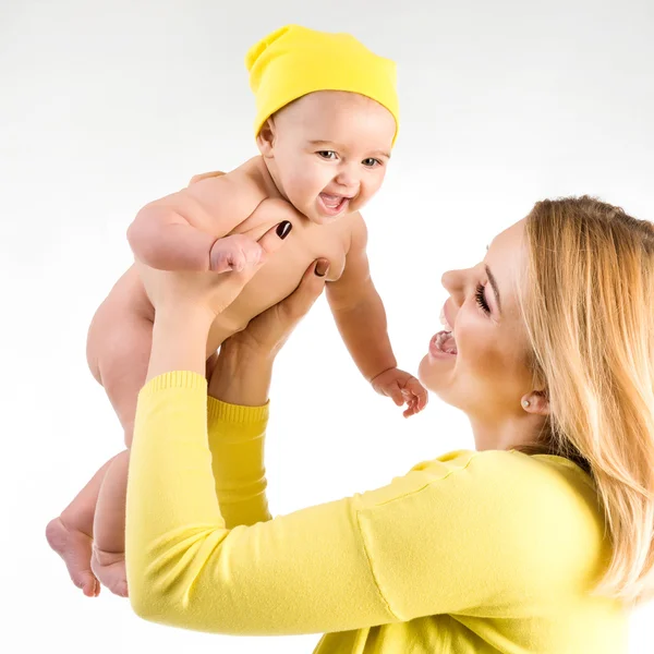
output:
<svg viewBox="0 0 654 654"><path fill-rule="evenodd" d="M353 33L399 65L402 129L365 211L401 366L439 329L440 275L476 263L542 197L596 194L654 219L654 5L622 2L2 0L0 3L0 639L94 651L311 652L146 623L87 600L44 528L122 446L86 329L130 264L146 202L254 154L243 57L300 23ZM280 356L267 441L274 513L385 484L471 447L435 398L404 421L350 362L320 300ZM651 652L654 606L633 654ZM5 642L0 642L4 647ZM580 653L585 654L585 653Z"/></svg>

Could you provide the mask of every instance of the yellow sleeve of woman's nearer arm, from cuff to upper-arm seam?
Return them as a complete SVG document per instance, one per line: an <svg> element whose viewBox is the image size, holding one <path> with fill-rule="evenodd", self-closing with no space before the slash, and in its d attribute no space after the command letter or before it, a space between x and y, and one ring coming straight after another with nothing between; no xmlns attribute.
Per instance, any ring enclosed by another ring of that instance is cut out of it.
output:
<svg viewBox="0 0 654 654"><path fill-rule="evenodd" d="M393 619L352 498L229 529L207 434L206 379L152 379L138 396L125 555L133 609L166 625L294 634Z"/></svg>

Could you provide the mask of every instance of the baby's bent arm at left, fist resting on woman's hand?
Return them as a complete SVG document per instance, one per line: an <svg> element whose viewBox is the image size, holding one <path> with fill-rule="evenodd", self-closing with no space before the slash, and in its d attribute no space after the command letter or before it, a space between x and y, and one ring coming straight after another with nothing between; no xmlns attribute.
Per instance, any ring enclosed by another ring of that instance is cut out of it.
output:
<svg viewBox="0 0 654 654"><path fill-rule="evenodd" d="M195 178L194 178L195 180ZM193 182L193 181L192 181ZM128 230L136 258L160 270L206 271L230 268L228 254L247 250L251 239L222 239L264 199L243 177L203 177L186 189L143 207Z"/></svg>

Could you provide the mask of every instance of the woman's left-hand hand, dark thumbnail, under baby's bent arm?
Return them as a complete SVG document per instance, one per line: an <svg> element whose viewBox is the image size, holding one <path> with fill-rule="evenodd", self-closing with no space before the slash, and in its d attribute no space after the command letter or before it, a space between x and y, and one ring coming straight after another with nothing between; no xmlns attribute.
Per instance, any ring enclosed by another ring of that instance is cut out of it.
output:
<svg viewBox="0 0 654 654"><path fill-rule="evenodd" d="M258 262L245 266L240 271L218 275L156 270L136 262L146 293L155 307L155 314L173 313L182 318L184 315L189 317L204 315L213 322L237 299L268 257L281 247L291 228L291 223L284 220L269 229L256 242L261 249Z"/></svg>

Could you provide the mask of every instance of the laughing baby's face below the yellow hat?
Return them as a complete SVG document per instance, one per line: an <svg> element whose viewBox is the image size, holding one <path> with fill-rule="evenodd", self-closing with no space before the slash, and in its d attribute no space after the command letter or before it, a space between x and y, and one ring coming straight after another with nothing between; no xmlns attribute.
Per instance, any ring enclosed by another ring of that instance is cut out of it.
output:
<svg viewBox="0 0 654 654"><path fill-rule="evenodd" d="M272 159L280 192L324 225L359 210L378 191L396 122L367 97L320 90L279 111L270 132L271 145L262 152Z"/></svg>

